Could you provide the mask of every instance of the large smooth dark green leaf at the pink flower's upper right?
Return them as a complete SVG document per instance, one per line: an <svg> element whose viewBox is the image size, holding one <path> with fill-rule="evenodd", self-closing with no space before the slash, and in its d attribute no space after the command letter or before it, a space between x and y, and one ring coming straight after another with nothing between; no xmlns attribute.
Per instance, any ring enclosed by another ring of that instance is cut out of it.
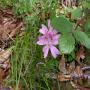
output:
<svg viewBox="0 0 90 90"><path fill-rule="evenodd" d="M65 17L55 17L52 19L53 27L61 33L69 33L72 30L72 23Z"/></svg>

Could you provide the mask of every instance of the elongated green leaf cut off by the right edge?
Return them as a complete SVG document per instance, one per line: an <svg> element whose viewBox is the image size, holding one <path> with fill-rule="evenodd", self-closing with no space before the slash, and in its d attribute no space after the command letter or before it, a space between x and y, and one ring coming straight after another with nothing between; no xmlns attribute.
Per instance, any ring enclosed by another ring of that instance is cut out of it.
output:
<svg viewBox="0 0 90 90"><path fill-rule="evenodd" d="M74 36L77 41L79 41L82 45L84 45L86 48L90 49L90 38L88 35L80 30L77 30L74 32Z"/></svg>

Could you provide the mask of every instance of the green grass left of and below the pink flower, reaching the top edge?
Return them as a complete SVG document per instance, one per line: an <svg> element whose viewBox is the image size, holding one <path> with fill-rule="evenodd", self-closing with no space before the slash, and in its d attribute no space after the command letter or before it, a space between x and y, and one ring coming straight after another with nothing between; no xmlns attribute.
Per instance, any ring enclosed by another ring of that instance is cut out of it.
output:
<svg viewBox="0 0 90 90"><path fill-rule="evenodd" d="M12 8L14 17L22 19L25 25L24 35L20 37L17 34L10 43L9 47L14 48L5 85L14 90L61 90L59 81L48 78L48 73L58 73L59 58L56 60L49 56L43 59L41 47L36 44L40 25L42 22L46 24L47 19L56 13L58 1L1 0L0 5L2 9ZM67 87L69 84L64 85ZM68 88L72 89L71 86Z"/></svg>

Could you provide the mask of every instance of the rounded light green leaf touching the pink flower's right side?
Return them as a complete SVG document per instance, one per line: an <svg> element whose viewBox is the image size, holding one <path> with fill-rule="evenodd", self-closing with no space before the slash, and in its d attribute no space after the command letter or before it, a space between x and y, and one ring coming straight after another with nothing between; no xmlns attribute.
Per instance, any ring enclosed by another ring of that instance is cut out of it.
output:
<svg viewBox="0 0 90 90"><path fill-rule="evenodd" d="M74 50L75 39L72 34L63 34L59 40L59 49L63 54L70 54Z"/></svg>

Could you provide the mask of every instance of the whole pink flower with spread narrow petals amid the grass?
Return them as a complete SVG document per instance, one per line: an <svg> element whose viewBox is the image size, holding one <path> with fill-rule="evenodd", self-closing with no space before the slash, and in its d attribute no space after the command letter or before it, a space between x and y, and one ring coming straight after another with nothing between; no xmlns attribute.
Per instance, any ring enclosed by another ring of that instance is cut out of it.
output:
<svg viewBox="0 0 90 90"><path fill-rule="evenodd" d="M37 41L37 44L44 45L44 58L48 56L49 50L51 51L52 56L56 58L59 54L59 50L55 47L55 45L58 44L60 35L57 34L55 29L53 29L50 20L48 20L48 27L42 24L42 28L39 30L39 32L42 34L42 36L38 38L39 40Z"/></svg>

